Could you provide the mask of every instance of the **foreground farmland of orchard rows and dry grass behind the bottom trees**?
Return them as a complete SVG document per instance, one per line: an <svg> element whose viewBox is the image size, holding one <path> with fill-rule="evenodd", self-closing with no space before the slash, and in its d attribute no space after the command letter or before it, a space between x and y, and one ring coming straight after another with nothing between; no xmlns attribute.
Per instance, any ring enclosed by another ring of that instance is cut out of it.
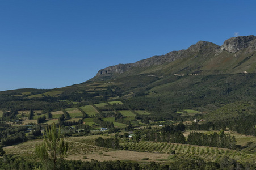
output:
<svg viewBox="0 0 256 170"><path fill-rule="evenodd" d="M69 160L133 160L142 162L163 162L179 158L200 158L207 161L218 161L223 156L236 159L238 162L254 163L256 155L246 154L236 150L225 148L194 146L167 142L124 142L120 143L123 150L113 150L95 146L95 139L98 137L108 138L104 135L82 136L64 138L68 142L69 150L65 159ZM40 145L43 139L27 141L3 147L6 154L22 155L35 159L35 146ZM174 152L175 154L170 154Z"/></svg>

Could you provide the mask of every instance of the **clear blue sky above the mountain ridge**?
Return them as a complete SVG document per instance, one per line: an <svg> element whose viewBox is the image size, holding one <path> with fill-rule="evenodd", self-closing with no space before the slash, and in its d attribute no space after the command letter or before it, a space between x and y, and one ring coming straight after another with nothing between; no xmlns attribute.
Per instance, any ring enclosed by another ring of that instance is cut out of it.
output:
<svg viewBox="0 0 256 170"><path fill-rule="evenodd" d="M0 91L69 86L199 40L256 35L255 8L255 0L0 0Z"/></svg>

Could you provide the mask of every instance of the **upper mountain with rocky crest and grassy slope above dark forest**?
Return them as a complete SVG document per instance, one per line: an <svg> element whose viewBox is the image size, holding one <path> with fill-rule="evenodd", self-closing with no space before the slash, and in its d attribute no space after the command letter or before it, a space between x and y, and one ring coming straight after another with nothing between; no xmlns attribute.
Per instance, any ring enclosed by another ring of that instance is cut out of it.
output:
<svg viewBox="0 0 256 170"><path fill-rule="evenodd" d="M119 64L99 70L91 80L115 79L128 75L156 74L234 74L255 73L256 37L242 36L228 39L218 46L199 41L186 50L129 64Z"/></svg>

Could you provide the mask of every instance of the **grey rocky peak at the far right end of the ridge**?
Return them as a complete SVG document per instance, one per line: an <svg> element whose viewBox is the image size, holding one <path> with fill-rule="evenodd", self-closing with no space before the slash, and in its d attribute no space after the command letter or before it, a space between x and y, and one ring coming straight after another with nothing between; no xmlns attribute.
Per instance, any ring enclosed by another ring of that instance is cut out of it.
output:
<svg viewBox="0 0 256 170"><path fill-rule="evenodd" d="M256 36L250 35L250 36L240 36L240 37L233 37L226 41L224 41L224 44L221 45L221 50L226 50L230 53L236 53L239 50L248 48L249 46L256 45Z"/></svg>

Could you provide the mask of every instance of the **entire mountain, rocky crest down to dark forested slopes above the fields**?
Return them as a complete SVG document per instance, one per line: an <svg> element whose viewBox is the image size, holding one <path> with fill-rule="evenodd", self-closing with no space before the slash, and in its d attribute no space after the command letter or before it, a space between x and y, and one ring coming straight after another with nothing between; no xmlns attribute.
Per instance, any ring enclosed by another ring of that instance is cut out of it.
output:
<svg viewBox="0 0 256 170"><path fill-rule="evenodd" d="M185 120L177 111L212 112L256 100L255 47L255 36L231 38L221 46L199 41L186 50L107 67L81 84L0 92L0 109L53 111L74 107L66 100L86 105L118 99L125 101L123 109L145 109L157 120Z"/></svg>

